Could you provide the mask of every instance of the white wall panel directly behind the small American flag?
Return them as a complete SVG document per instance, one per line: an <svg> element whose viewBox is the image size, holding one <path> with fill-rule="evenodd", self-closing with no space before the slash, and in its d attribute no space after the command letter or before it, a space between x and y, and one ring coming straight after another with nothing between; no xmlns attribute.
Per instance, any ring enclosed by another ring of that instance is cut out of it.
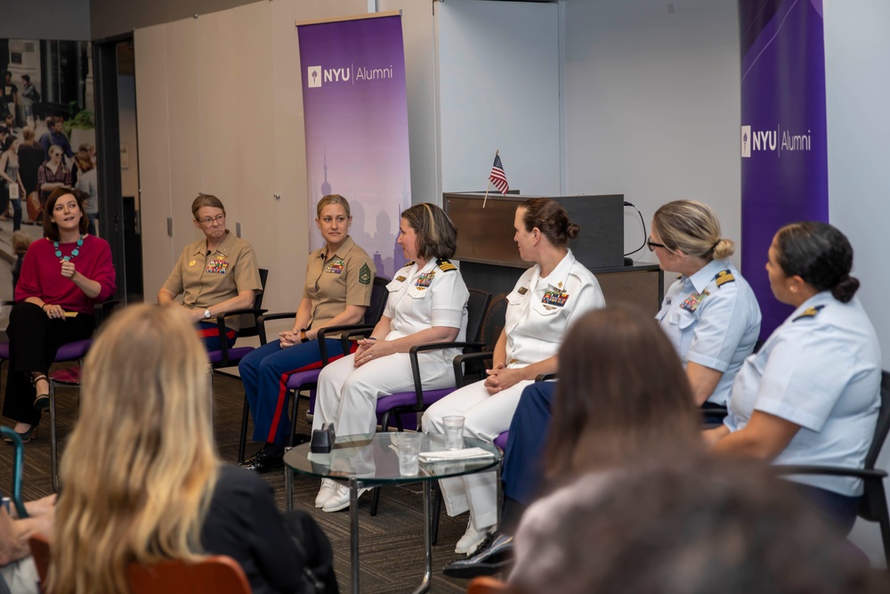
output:
<svg viewBox="0 0 890 594"><path fill-rule="evenodd" d="M448 0L437 11L442 191L484 190L499 149L511 188L558 195L556 4Z"/></svg>

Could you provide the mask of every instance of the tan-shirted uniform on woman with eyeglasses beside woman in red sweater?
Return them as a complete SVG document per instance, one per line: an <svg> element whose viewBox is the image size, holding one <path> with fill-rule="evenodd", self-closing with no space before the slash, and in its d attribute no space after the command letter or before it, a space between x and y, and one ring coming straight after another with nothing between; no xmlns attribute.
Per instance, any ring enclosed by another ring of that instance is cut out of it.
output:
<svg viewBox="0 0 890 594"><path fill-rule="evenodd" d="M241 291L263 292L260 270L256 265L254 248L247 241L226 231L214 251L207 251L207 240L190 243L182 250L182 256L167 277L164 289L174 295L182 293L182 305L191 309L206 309L238 297ZM226 339L231 346L238 337L239 319L232 316L226 319ZM204 340L207 350L221 347L215 321L201 321L198 335Z"/></svg>

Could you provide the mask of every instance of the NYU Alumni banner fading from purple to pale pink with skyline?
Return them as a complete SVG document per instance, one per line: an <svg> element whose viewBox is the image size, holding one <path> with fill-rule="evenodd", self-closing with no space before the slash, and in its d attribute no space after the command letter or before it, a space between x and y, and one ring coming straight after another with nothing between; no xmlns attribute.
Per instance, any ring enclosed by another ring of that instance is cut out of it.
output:
<svg viewBox="0 0 890 594"><path fill-rule="evenodd" d="M398 12L298 23L309 210L326 194L352 207L350 234L392 278L411 205L405 53ZM310 249L322 240L310 225Z"/></svg>

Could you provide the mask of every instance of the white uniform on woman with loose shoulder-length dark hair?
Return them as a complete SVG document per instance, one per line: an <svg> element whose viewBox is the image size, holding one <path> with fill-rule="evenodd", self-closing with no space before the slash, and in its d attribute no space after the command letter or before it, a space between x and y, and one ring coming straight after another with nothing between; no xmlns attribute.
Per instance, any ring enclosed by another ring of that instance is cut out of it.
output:
<svg viewBox="0 0 890 594"><path fill-rule="evenodd" d="M466 301L470 293L454 264L430 260L401 268L386 285L389 297L384 315L390 319L386 340L404 338L433 326L460 329L466 337ZM451 362L458 349L443 349L418 356L424 389L454 386ZM384 395L414 389L408 353L394 353L354 366L355 355L330 363L319 375L318 399L312 428L334 423L337 435L374 433L376 402Z"/></svg>

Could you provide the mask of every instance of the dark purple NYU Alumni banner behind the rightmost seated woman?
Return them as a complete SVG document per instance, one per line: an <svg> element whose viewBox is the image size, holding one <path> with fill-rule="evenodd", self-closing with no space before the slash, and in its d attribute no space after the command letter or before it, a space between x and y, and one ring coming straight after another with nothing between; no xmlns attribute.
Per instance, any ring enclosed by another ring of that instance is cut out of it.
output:
<svg viewBox="0 0 890 594"><path fill-rule="evenodd" d="M791 313L764 265L773 235L828 221L825 45L821 0L739 0L742 273L766 338Z"/></svg>

